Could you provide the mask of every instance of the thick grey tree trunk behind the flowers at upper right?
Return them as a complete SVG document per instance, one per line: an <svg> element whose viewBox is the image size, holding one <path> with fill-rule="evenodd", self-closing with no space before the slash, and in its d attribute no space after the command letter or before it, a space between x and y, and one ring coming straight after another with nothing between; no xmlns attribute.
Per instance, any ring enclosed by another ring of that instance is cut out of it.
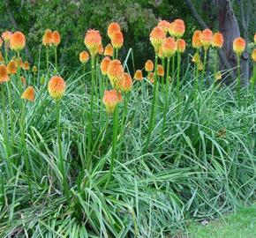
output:
<svg viewBox="0 0 256 238"><path fill-rule="evenodd" d="M224 37L222 50L232 68L237 68L237 56L233 52L233 41L240 36L237 18L234 14L230 0L216 0L220 32ZM249 56L245 53L241 56L241 83L247 86L249 83ZM224 66L224 63L222 63Z"/></svg>

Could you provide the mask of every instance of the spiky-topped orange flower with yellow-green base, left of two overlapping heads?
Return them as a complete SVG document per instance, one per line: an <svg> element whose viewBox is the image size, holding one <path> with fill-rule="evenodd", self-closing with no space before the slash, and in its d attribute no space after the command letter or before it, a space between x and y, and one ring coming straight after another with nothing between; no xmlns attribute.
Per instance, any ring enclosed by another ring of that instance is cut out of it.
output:
<svg viewBox="0 0 256 238"><path fill-rule="evenodd" d="M88 48L92 57L96 56L98 49L102 44L102 36L99 31L89 29L85 37L85 45Z"/></svg>

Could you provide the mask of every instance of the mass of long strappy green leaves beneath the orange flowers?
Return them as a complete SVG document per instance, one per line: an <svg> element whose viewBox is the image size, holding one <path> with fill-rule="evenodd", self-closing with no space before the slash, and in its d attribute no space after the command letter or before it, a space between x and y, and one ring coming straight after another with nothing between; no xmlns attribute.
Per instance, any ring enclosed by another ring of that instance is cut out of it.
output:
<svg viewBox="0 0 256 238"><path fill-rule="evenodd" d="M131 52L123 61L128 72ZM45 71L38 62L39 81ZM186 219L213 218L255 201L255 91L241 89L237 96L207 80L195 89L188 64L178 97L173 82L166 94L165 84L136 81L114 122L102 105L99 64L94 84L82 65L76 71L58 68L67 84L58 107L47 91L56 75L53 64L46 82L34 86L34 103L24 108L19 78L11 77L12 104L1 115L1 237L168 237ZM21 73L31 84L34 75ZM7 91L0 87L4 98ZM153 94L157 104L150 116ZM5 130L11 126L9 144Z"/></svg>

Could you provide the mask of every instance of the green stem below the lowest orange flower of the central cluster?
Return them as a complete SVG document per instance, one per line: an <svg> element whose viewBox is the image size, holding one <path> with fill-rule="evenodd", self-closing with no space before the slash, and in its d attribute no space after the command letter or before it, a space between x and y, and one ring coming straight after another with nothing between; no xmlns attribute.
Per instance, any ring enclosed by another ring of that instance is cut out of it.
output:
<svg viewBox="0 0 256 238"><path fill-rule="evenodd" d="M105 189L108 188L109 182L111 181L114 165L115 165L115 159L117 157L117 134L118 134L118 105L114 110L114 116L113 116L112 152L111 152L111 158L110 158L109 176L105 184Z"/></svg>

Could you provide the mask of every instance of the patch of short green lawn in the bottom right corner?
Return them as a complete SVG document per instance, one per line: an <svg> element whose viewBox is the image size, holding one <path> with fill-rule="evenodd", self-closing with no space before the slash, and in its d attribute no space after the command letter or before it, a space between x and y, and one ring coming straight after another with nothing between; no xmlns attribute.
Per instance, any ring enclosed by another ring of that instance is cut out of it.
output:
<svg viewBox="0 0 256 238"><path fill-rule="evenodd" d="M240 208L237 212L210 221L207 226L189 227L189 238L255 238L256 205Z"/></svg>

